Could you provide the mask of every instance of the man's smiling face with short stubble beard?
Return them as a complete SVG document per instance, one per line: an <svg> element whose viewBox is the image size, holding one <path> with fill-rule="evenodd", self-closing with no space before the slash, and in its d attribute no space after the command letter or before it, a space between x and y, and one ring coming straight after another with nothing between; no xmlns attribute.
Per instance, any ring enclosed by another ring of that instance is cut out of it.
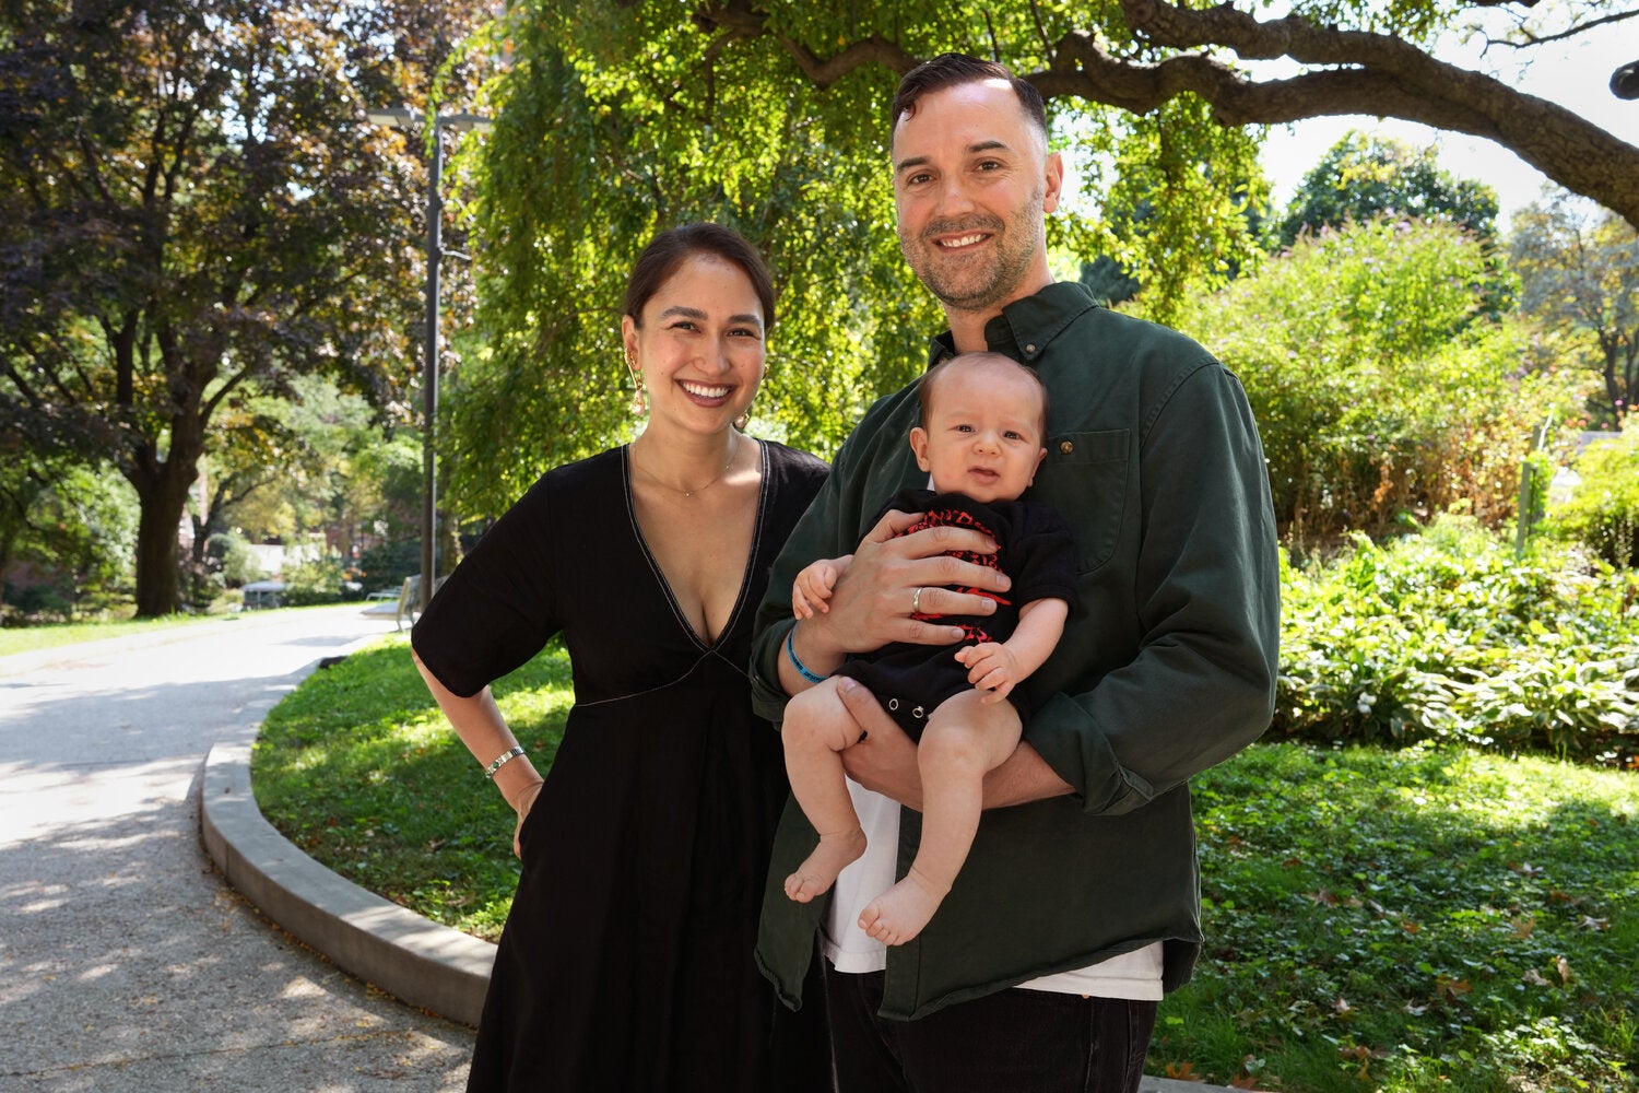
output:
<svg viewBox="0 0 1639 1093"><path fill-rule="evenodd" d="M1062 167L1003 80L923 95L893 128L900 249L947 310L997 311L1052 280L1042 218Z"/></svg>

